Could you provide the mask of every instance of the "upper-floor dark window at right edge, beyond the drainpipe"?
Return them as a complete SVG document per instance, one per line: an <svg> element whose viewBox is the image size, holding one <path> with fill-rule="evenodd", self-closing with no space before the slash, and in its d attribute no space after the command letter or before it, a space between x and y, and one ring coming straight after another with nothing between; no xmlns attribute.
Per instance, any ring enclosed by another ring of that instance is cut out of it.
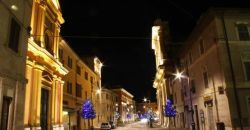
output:
<svg viewBox="0 0 250 130"><path fill-rule="evenodd" d="M246 24L238 24L237 25L239 40L240 41L249 41L249 32Z"/></svg>

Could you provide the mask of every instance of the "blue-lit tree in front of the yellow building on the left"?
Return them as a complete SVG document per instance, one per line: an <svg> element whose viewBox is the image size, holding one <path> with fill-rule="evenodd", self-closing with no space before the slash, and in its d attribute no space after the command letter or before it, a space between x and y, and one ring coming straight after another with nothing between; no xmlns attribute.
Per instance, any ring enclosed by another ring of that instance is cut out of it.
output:
<svg viewBox="0 0 250 130"><path fill-rule="evenodd" d="M88 119L88 126L90 128L89 119L93 120L95 118L95 110L93 108L93 103L90 100L86 100L82 107L82 117ZM93 122L93 121L92 121Z"/></svg>

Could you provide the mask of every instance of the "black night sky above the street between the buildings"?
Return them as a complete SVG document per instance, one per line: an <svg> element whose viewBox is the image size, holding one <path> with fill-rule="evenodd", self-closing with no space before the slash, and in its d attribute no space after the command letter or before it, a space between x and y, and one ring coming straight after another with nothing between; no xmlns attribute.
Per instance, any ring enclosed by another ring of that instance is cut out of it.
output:
<svg viewBox="0 0 250 130"><path fill-rule="evenodd" d="M121 85L136 101L155 101L154 20L168 21L173 42L182 42L208 7L250 7L249 0L225 1L60 0L61 35L79 56L100 58L103 86Z"/></svg>

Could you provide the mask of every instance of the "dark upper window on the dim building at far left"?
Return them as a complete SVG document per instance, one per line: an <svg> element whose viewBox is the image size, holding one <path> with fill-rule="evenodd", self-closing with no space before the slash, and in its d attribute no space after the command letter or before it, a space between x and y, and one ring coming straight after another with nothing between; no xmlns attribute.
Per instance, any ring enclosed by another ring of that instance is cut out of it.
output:
<svg viewBox="0 0 250 130"><path fill-rule="evenodd" d="M20 31L21 31L21 26L18 24L18 22L14 18L12 18L8 47L15 52L18 52L18 48L19 48Z"/></svg>

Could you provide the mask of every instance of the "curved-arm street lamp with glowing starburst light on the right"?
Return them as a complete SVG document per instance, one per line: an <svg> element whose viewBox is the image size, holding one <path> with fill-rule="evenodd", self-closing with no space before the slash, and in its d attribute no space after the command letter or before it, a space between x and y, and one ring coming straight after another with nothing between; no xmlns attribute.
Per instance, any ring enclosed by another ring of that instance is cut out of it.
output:
<svg viewBox="0 0 250 130"><path fill-rule="evenodd" d="M179 81L181 81L182 78L187 79L188 80L187 85L188 85L188 88L189 88L190 79L189 79L189 77L187 75L183 75L183 72L179 72L178 70L177 70L177 72L174 75L175 75L175 79L179 79ZM193 109L193 101L192 101L192 92L191 92L191 89L189 90L189 100L190 100L191 112L192 112L191 113L192 114L192 116L191 116L191 118L192 118L191 125L192 125L192 130L195 130L194 109Z"/></svg>

